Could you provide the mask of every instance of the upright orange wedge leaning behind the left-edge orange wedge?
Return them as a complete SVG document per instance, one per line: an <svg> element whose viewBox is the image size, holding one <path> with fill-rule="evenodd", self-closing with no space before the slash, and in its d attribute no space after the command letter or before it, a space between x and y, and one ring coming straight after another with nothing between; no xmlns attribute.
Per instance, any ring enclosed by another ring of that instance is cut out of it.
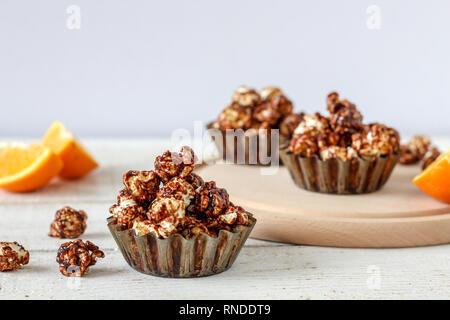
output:
<svg viewBox="0 0 450 320"><path fill-rule="evenodd" d="M62 178L81 178L98 167L94 158L59 121L54 122L48 129L42 144L50 148L64 162L64 168L59 173Z"/></svg>

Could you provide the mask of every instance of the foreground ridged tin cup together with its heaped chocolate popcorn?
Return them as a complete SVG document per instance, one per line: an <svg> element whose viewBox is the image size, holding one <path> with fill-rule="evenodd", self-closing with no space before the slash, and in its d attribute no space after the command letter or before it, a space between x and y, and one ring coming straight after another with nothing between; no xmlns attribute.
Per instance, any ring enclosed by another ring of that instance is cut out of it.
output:
<svg viewBox="0 0 450 320"><path fill-rule="evenodd" d="M272 92L272 95L276 95ZM240 90L234 99L254 107L255 92ZM230 201L214 181L194 173L189 147L166 151L155 160L151 188L126 183L108 218L108 228L127 263L135 270L164 277L201 277L227 270L235 261L256 219Z"/></svg>

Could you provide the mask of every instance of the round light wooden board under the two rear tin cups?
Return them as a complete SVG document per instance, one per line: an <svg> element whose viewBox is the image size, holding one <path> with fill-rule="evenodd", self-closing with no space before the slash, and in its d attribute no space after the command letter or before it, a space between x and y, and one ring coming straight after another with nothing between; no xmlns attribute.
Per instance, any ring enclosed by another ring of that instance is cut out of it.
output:
<svg viewBox="0 0 450 320"><path fill-rule="evenodd" d="M258 220L251 237L336 247L410 247L450 243L450 205L421 192L411 179L418 166L397 165L386 185L363 195L330 195L295 186L283 166L200 167L226 188L236 205Z"/></svg>

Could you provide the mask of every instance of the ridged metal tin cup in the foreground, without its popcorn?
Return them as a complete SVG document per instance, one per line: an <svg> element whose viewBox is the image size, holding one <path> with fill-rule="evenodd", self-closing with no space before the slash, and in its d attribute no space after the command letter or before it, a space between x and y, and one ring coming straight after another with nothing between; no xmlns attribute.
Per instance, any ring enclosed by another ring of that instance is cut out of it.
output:
<svg viewBox="0 0 450 320"><path fill-rule="evenodd" d="M109 217L108 228L127 263L136 271L169 278L192 278L228 270L255 226L237 226L234 232L221 230L217 237L204 233L192 239L180 234L159 239L154 234L136 235L133 229L121 230Z"/></svg>

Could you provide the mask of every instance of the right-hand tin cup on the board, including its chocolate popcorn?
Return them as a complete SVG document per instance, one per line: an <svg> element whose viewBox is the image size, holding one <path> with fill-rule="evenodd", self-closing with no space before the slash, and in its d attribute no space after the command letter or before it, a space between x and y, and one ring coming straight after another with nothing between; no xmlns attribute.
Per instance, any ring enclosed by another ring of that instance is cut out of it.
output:
<svg viewBox="0 0 450 320"><path fill-rule="evenodd" d="M302 115L280 157L300 188L361 194L379 190L400 156L398 132L381 123L364 124L355 104L332 92L328 116Z"/></svg>

